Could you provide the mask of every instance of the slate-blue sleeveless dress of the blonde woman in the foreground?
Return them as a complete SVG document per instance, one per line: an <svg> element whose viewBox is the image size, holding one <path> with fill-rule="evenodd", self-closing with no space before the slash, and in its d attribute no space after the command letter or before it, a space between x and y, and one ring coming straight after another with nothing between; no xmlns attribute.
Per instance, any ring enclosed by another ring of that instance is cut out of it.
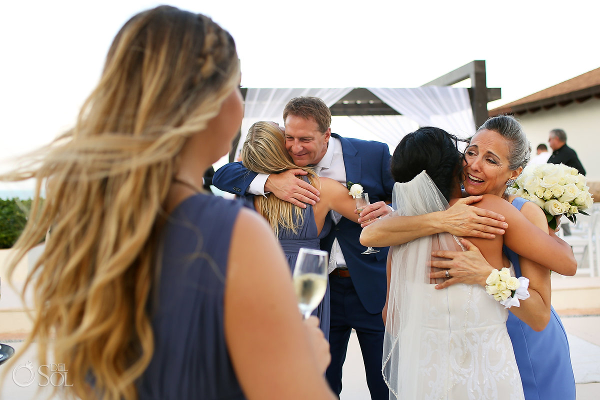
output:
<svg viewBox="0 0 600 400"><path fill-rule="evenodd" d="M151 306L154 355L137 384L140 399L245 399L223 326L227 259L241 207L198 194L169 216Z"/></svg>

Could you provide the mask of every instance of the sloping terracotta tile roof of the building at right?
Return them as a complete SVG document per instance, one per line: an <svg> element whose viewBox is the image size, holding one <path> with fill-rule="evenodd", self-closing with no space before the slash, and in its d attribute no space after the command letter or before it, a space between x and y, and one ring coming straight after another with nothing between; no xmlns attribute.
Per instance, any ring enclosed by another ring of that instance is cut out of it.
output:
<svg viewBox="0 0 600 400"><path fill-rule="evenodd" d="M527 112L539 111L542 108L566 106L573 101L586 101L592 97L600 98L600 68L497 107L488 113L490 116L506 113L522 115Z"/></svg>

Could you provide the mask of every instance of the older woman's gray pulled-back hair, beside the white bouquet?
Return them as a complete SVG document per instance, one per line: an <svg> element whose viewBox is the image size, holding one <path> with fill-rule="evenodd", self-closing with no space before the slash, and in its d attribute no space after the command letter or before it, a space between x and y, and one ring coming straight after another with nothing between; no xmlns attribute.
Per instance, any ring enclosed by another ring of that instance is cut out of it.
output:
<svg viewBox="0 0 600 400"><path fill-rule="evenodd" d="M490 117L477 130L487 129L494 131L504 139L508 140L508 167L512 171L518 167L525 167L531 156L529 140L523 132L523 127L512 115L498 115Z"/></svg>

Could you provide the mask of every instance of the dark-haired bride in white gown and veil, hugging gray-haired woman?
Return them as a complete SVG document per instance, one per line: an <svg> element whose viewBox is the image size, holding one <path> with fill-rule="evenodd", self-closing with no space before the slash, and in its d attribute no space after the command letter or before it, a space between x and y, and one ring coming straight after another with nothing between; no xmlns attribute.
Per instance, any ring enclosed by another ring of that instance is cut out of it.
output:
<svg viewBox="0 0 600 400"><path fill-rule="evenodd" d="M395 184L392 199L401 218L443 211L449 206L446 199L451 204L460 199L460 161L457 139L446 131L424 127L405 136L392 156L392 176L406 182ZM550 235L508 201L484 195L478 207L503 215L509 227L494 239L470 238L491 264L485 276L475 279L478 284L440 290L435 285L440 279L430 279L431 270L439 271L431 269L431 251L472 245L452 234L430 231L389 252L382 372L391 399L524 398L506 330L508 309L487 294L485 278L494 267L511 267L503 255L504 242L538 263L567 261ZM367 246L373 244L368 230L377 230L377 223L361 234ZM530 278L532 296L512 310L533 329L544 329L545 301L536 290L537 278Z"/></svg>

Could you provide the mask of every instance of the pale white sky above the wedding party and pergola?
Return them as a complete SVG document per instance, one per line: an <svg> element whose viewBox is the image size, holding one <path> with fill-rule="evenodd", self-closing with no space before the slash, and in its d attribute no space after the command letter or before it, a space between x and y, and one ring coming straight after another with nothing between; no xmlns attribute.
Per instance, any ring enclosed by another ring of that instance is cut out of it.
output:
<svg viewBox="0 0 600 400"><path fill-rule="evenodd" d="M0 168L73 124L118 29L133 14L158 4L165 3L19 0L2 5ZM491 109L600 67L593 0L166 4L207 14L233 35L246 87L410 88L483 59L488 87L502 88L502 100Z"/></svg>

